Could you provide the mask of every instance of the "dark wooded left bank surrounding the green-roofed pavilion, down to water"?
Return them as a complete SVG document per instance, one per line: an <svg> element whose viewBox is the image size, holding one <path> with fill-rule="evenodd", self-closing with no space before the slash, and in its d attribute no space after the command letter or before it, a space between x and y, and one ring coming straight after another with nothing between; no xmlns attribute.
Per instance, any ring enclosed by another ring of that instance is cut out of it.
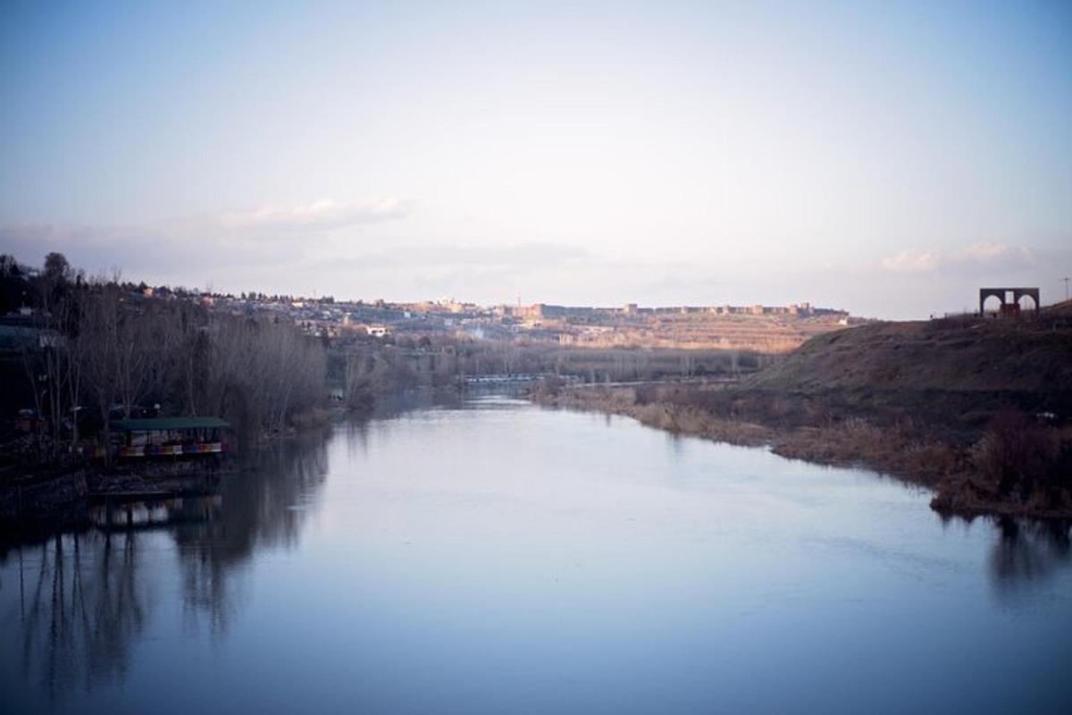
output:
<svg viewBox="0 0 1072 715"><path fill-rule="evenodd" d="M151 299L56 253L41 270L0 256L0 531L85 521L99 497L205 492L238 445L327 421L326 348L297 326ZM223 418L228 453L120 457L118 421L170 416Z"/></svg>

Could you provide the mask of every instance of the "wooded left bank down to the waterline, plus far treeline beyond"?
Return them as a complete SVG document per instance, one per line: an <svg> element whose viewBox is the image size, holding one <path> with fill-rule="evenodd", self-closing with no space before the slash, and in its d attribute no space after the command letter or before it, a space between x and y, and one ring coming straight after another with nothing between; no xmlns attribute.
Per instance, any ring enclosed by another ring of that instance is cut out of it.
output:
<svg viewBox="0 0 1072 715"><path fill-rule="evenodd" d="M464 390L473 376L726 375L766 359L741 349L486 339L381 302L351 304L347 317L390 315L398 334L315 319L336 310L331 297L236 299L87 278L59 253L41 268L0 255L0 531L60 528L94 495L194 493L204 487L199 472L234 466L229 457L188 457L183 448L190 474L168 477L165 490L158 472L172 458L123 456L119 420L220 418L229 424L223 451L237 456L343 414L369 416L407 390Z"/></svg>

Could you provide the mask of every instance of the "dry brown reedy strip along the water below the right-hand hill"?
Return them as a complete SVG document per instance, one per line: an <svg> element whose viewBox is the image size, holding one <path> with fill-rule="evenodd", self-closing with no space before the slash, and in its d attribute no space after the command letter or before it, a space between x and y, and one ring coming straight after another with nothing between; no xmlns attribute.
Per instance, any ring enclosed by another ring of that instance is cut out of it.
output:
<svg viewBox="0 0 1072 715"><path fill-rule="evenodd" d="M1010 443L1019 442L1043 460L1060 459L1069 450L1069 431L1036 430L1017 426L1003 438L992 431L965 442L941 430L910 419L880 424L852 416L835 402L800 394L753 392L718 387L723 409L697 404L687 391L696 387L640 386L585 387L559 392L534 390L537 404L632 417L642 424L676 434L700 436L734 445L766 446L781 457L818 464L859 466L898 477L935 492L930 506L954 516L982 515L1072 519L1072 491L1064 483L1048 483L1031 475L1030 488L1002 472ZM675 393L676 392L676 393ZM787 423L794 403L806 402L809 423ZM786 411L778 414L779 411ZM765 413L765 417L762 416ZM995 444L999 443L999 444ZM1056 467L1043 464L1041 471Z"/></svg>

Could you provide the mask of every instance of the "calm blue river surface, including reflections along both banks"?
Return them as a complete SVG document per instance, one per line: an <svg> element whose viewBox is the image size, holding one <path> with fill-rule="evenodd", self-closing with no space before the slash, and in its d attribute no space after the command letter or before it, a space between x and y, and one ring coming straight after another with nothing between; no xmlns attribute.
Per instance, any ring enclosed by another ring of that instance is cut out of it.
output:
<svg viewBox="0 0 1072 715"><path fill-rule="evenodd" d="M1067 533L506 398L0 555L0 711L1072 712Z"/></svg>

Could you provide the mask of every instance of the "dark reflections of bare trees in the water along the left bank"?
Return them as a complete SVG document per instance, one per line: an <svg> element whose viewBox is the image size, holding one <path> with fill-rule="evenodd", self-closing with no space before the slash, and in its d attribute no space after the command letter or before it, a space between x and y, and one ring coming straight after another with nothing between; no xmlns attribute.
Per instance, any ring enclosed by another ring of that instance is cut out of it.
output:
<svg viewBox="0 0 1072 715"><path fill-rule="evenodd" d="M123 681L131 646L153 615L152 594L169 576L166 563L147 558L159 549L139 549L154 539L178 546L183 624L207 622L223 634L240 605L237 575L254 552L297 545L308 512L294 507L314 501L324 483L325 445L318 435L252 456L250 468L225 478L219 508L203 521L185 513L145 530L66 534L0 557L0 630L12 646L18 634L21 682L57 703L76 688Z"/></svg>

